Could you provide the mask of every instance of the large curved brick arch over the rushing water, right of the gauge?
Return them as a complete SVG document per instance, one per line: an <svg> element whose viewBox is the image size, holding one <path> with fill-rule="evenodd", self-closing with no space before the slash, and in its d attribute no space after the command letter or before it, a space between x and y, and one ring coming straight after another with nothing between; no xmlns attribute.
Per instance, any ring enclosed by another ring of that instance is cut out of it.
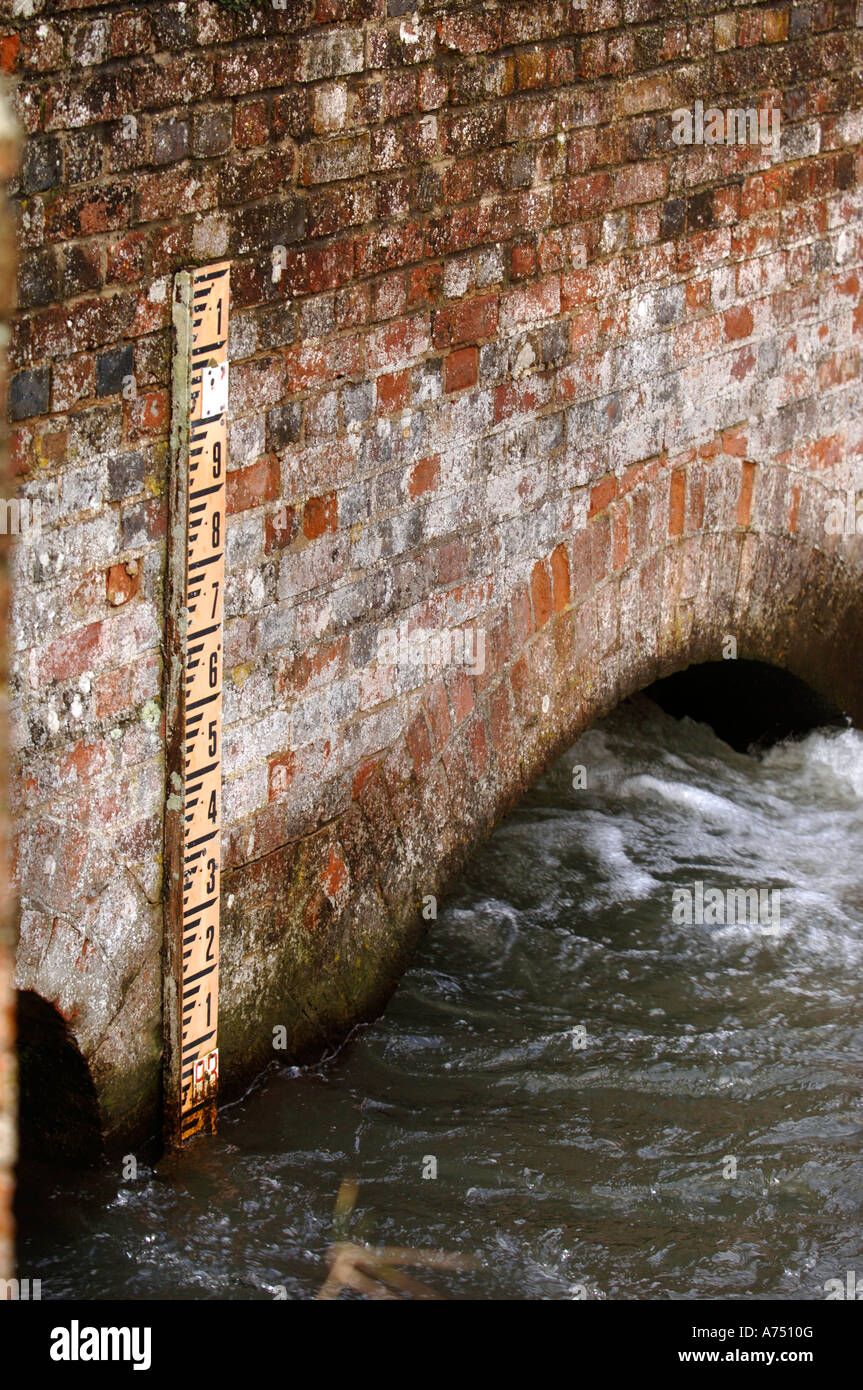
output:
<svg viewBox="0 0 863 1390"><path fill-rule="evenodd" d="M728 637L863 726L863 546L825 537L830 496L812 474L756 466L739 439L598 484L584 524L496 589L485 671L428 681L392 745L357 766L340 816L271 853L247 847L228 873L228 1087L271 1059L275 1024L303 1058L374 1016L425 895L581 733L721 659Z"/></svg>

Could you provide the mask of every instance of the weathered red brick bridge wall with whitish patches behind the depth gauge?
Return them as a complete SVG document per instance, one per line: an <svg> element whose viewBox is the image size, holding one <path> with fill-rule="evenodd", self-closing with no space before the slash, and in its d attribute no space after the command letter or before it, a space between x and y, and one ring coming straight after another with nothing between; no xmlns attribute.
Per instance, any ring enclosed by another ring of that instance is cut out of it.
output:
<svg viewBox="0 0 863 1390"><path fill-rule="evenodd" d="M10 389L19 980L158 1095L172 274L232 260L228 1084L377 1009L586 723L692 659L860 716L863 6L33 0ZM10 13L8 0L4 11ZM673 111L781 113L781 146ZM485 670L378 659L399 623ZM857 667L859 669L859 667Z"/></svg>

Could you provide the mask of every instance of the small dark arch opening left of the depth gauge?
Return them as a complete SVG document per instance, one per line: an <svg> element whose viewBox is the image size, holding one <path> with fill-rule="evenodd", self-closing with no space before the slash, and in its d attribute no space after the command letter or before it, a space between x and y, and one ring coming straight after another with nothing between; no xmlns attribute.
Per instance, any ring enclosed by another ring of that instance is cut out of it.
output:
<svg viewBox="0 0 863 1390"><path fill-rule="evenodd" d="M86 1165L101 1154L96 1087L68 1024L32 990L19 990L18 1172Z"/></svg>

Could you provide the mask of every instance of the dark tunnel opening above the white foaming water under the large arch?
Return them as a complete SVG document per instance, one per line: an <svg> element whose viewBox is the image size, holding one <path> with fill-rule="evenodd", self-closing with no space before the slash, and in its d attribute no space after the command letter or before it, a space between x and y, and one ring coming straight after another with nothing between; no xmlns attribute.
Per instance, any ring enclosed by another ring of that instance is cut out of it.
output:
<svg viewBox="0 0 863 1390"><path fill-rule="evenodd" d="M766 662L705 662L643 692L675 719L689 716L745 753L846 719L805 681Z"/></svg>

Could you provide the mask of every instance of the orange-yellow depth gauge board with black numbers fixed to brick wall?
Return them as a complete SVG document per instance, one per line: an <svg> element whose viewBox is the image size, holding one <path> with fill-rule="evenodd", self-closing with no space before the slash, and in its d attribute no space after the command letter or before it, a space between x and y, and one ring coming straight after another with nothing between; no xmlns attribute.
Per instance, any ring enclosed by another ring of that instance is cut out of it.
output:
<svg viewBox="0 0 863 1390"><path fill-rule="evenodd" d="M185 468L178 520L185 520L182 606L178 617L179 688L172 787L179 777L182 885L171 895L174 1029L171 1084L179 1086L174 1138L185 1143L215 1129L218 1090L218 924L221 899L221 709L222 612L225 592L225 471L228 459L228 263L178 277L178 303L188 311L185 371L186 430L178 450ZM182 284L181 284L182 281ZM183 505L185 503L185 505ZM174 541L179 545L179 538ZM179 584L181 567L176 566ZM171 788L170 788L171 790ZM176 824L176 819L174 820ZM176 1105L176 1097L168 1097Z"/></svg>

